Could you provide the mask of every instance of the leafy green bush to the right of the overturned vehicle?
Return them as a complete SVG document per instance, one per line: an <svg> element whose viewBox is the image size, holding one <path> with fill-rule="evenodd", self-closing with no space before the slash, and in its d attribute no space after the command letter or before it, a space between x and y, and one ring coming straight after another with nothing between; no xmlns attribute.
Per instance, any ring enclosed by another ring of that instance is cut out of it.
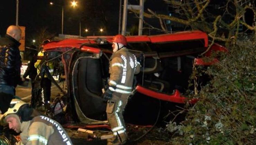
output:
<svg viewBox="0 0 256 145"><path fill-rule="evenodd" d="M186 119L167 125L175 133L172 144L256 143L256 41L241 38L218 64L198 73L211 81L191 96L200 100Z"/></svg>

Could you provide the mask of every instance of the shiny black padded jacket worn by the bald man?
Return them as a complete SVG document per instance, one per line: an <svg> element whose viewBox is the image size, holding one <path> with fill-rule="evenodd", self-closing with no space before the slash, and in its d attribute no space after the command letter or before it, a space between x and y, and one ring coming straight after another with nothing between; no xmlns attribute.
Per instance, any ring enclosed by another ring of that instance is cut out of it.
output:
<svg viewBox="0 0 256 145"><path fill-rule="evenodd" d="M9 35L0 39L0 85L16 87L21 82L20 42Z"/></svg>

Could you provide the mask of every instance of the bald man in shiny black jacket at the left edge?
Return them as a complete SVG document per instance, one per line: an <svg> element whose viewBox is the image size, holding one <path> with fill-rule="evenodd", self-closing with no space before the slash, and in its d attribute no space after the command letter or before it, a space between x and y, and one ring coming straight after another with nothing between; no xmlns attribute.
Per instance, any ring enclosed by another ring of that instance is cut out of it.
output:
<svg viewBox="0 0 256 145"><path fill-rule="evenodd" d="M6 94L15 95L16 86L22 83L20 38L21 29L11 25L7 28L6 35L0 39L0 92Z"/></svg>

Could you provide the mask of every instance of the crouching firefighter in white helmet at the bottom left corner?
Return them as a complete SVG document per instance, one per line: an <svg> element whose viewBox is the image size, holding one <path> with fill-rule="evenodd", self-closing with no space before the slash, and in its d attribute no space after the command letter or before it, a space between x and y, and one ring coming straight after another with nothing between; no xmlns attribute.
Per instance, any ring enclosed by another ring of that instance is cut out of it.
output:
<svg viewBox="0 0 256 145"><path fill-rule="evenodd" d="M55 120L40 115L29 104L12 99L10 107L1 116L1 124L20 133L16 145L72 145L64 128Z"/></svg>

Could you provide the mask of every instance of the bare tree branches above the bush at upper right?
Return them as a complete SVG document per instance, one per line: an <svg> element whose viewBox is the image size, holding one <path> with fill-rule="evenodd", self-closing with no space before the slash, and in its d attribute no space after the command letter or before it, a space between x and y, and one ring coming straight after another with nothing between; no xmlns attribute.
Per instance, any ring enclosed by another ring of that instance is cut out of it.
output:
<svg viewBox="0 0 256 145"><path fill-rule="evenodd" d="M170 20L192 30L207 32L213 41L236 42L240 25L252 30L256 36L256 8L253 0L223 0L218 1L218 5L214 5L211 0L163 1L174 10L176 17L157 14L150 9L144 13L146 18L158 18L163 32L168 33L164 20ZM254 13L253 24L245 22L244 14L247 10ZM136 10L131 11L138 13Z"/></svg>

